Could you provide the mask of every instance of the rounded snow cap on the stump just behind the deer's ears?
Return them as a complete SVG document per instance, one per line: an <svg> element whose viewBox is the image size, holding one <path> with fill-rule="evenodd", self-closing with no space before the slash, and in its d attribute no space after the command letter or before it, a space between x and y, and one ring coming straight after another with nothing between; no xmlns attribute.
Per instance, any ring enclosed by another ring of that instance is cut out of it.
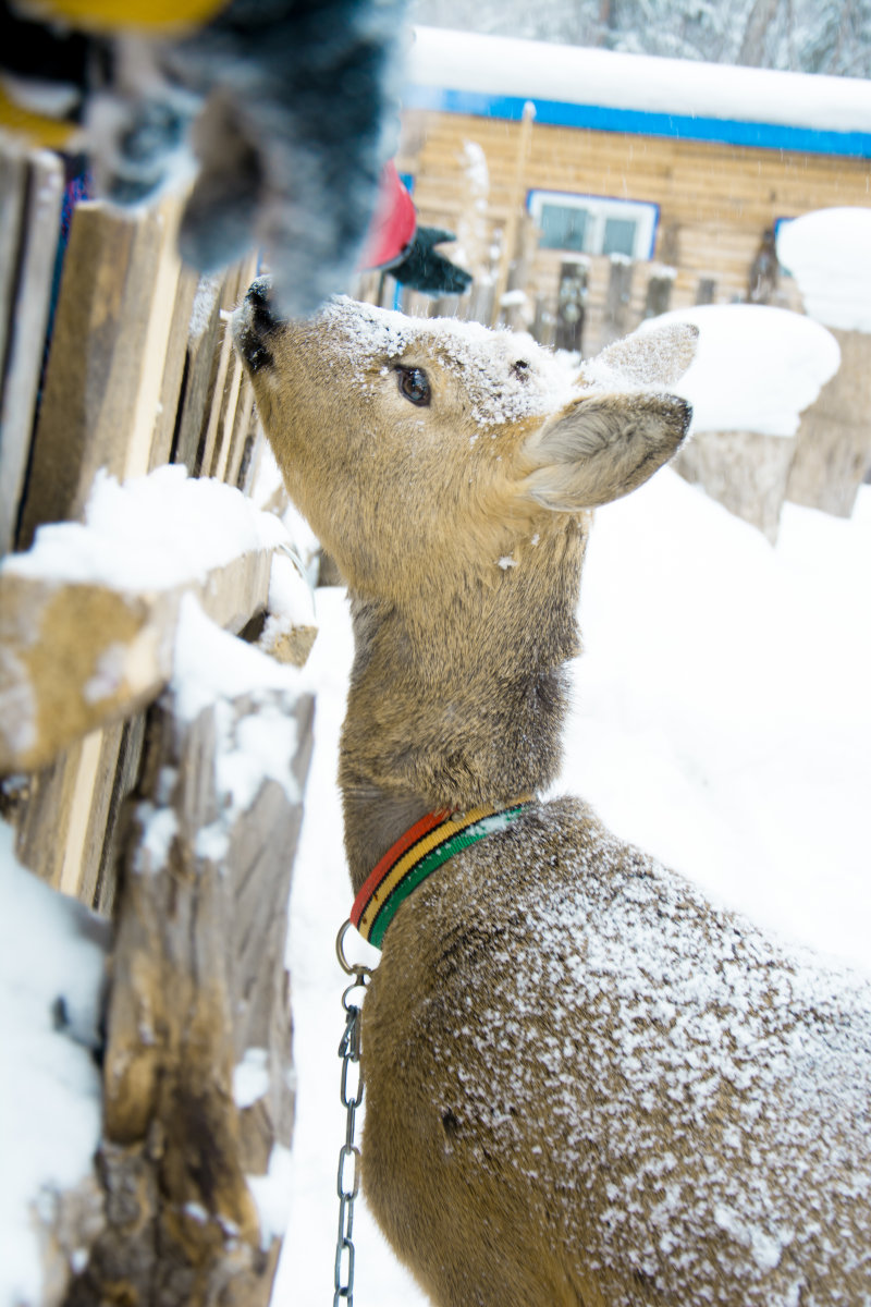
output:
<svg viewBox="0 0 871 1307"><path fill-rule="evenodd" d="M671 387L692 404L691 431L795 435L803 410L841 365L832 333L786 308L701 305L650 318L640 329L676 322L699 328L695 361Z"/></svg>

